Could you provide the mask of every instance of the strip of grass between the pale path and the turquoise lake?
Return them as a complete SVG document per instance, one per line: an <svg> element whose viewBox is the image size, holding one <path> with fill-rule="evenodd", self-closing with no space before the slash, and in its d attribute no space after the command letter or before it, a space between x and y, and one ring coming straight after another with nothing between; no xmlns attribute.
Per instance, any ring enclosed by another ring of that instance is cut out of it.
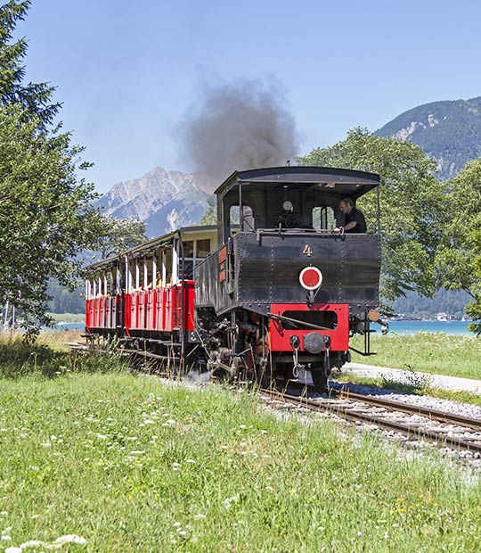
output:
<svg viewBox="0 0 481 553"><path fill-rule="evenodd" d="M362 349L363 338L355 337L352 344L356 349ZM353 351L352 360L379 367L481 379L481 339L474 336L441 333L374 335L371 349L376 355L363 357Z"/></svg>

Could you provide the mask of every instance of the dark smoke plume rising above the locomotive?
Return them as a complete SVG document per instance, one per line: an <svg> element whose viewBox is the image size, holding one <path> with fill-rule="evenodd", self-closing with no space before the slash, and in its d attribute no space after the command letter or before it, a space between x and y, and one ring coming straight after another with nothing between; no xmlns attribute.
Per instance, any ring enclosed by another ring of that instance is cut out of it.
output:
<svg viewBox="0 0 481 553"><path fill-rule="evenodd" d="M232 171L285 165L298 153L298 132L279 84L259 81L203 87L183 126L193 169L215 185Z"/></svg>

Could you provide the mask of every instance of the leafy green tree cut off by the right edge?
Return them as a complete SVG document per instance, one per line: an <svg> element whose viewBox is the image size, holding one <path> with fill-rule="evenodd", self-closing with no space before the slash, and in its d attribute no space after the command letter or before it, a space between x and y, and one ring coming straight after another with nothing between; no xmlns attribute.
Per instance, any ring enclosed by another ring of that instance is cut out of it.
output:
<svg viewBox="0 0 481 553"><path fill-rule="evenodd" d="M470 329L481 334L481 158L469 161L447 183L436 263L440 284L464 290L472 298L466 312L475 321Z"/></svg>

